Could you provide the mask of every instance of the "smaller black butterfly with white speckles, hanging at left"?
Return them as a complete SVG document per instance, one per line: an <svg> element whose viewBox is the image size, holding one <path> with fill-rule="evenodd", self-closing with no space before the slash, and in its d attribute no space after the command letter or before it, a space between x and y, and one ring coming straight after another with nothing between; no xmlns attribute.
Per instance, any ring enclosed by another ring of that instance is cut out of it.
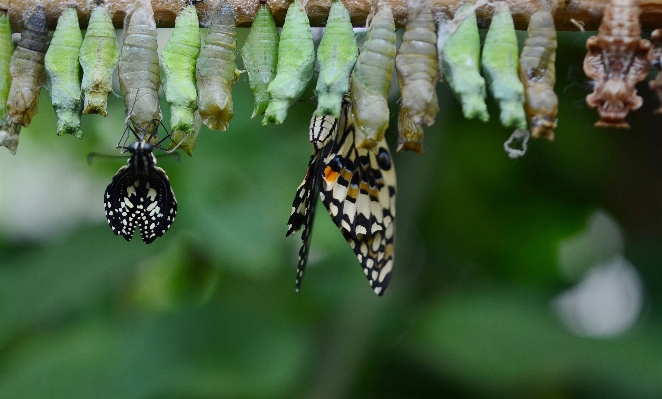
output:
<svg viewBox="0 0 662 399"><path fill-rule="evenodd" d="M121 234L131 241L136 227L139 227L143 241L150 244L170 228L177 215L175 192L170 187L168 175L156 166L156 157L152 153L154 148L162 149L159 144L169 135L152 145L149 140L156 129L145 137L147 128L139 134L127 123L127 131L138 140L128 147L121 147L130 152L131 157L106 187L106 218L115 235Z"/></svg>

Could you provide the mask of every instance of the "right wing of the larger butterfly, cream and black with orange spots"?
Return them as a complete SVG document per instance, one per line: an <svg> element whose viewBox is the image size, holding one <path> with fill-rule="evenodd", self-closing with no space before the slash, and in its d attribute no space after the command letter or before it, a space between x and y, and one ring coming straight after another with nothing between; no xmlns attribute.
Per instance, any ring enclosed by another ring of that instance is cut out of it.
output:
<svg viewBox="0 0 662 399"><path fill-rule="evenodd" d="M339 127L325 147L319 167L320 197L354 250L370 286L383 295L394 259L395 167L384 139L375 152L356 148L347 101Z"/></svg>

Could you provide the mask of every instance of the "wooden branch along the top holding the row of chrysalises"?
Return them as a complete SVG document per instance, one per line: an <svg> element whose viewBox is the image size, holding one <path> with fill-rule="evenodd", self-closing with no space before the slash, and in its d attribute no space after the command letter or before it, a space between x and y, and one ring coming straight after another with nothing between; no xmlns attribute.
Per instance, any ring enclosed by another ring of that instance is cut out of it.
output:
<svg viewBox="0 0 662 399"><path fill-rule="evenodd" d="M122 28L125 9L132 0L105 0L109 5L116 28ZM212 9L219 0L204 0L196 3L198 15L203 24L209 20ZM237 7L238 25L248 27L251 25L253 15L259 6L259 0L229 0ZM304 0L305 1L305 0ZM407 20L406 0L385 0L391 3L395 22L398 27L403 27ZM463 3L462 0L430 0L437 12L443 12L452 17L455 10ZM529 17L533 14L539 4L549 4L554 10L556 28L558 30L577 31L577 25L571 20L584 24L586 30L596 30L600 25L603 8L609 4L608 0L505 0L510 5L517 29L526 29ZM366 17L370 12L370 0L343 0L350 12L354 26L365 26ZM375 2L375 0L372 0ZM36 0L0 0L0 8L9 9L12 27L14 31L23 29L23 15L29 15L29 11L38 3ZM58 16L62 10L69 5L76 5L81 27L87 26L89 18L89 0L48 0L43 1L48 14L51 29L55 28ZM181 9L188 4L187 0L152 0L156 24L161 28L171 28L175 17ZM288 0L267 0L267 6L276 18L279 26L282 26L287 11ZM662 0L642 0L639 2L642 9L641 24L643 30L653 30L662 27ZM331 6L331 0L308 0L306 10L313 26L324 26L326 17ZM478 20L481 28L489 26L492 15L490 5L478 9Z"/></svg>

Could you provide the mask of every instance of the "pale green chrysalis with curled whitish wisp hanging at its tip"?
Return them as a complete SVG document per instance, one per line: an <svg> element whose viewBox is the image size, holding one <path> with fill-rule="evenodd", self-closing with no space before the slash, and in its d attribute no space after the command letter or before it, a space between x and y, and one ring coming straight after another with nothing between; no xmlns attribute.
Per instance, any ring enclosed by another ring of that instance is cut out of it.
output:
<svg viewBox="0 0 662 399"><path fill-rule="evenodd" d="M508 3L494 3L494 15L485 37L481 65L490 93L501 108L501 124L526 129L524 85L517 74L517 35Z"/></svg>

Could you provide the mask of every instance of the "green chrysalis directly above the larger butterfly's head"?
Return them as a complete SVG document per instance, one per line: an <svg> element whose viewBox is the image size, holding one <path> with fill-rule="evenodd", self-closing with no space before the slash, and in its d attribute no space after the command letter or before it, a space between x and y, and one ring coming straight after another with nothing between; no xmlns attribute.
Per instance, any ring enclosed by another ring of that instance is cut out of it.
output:
<svg viewBox="0 0 662 399"><path fill-rule="evenodd" d="M354 38L352 21L342 1L334 0L326 29L317 48L320 73L317 78L317 115L340 117L343 96L349 90L349 74L359 48Z"/></svg>

